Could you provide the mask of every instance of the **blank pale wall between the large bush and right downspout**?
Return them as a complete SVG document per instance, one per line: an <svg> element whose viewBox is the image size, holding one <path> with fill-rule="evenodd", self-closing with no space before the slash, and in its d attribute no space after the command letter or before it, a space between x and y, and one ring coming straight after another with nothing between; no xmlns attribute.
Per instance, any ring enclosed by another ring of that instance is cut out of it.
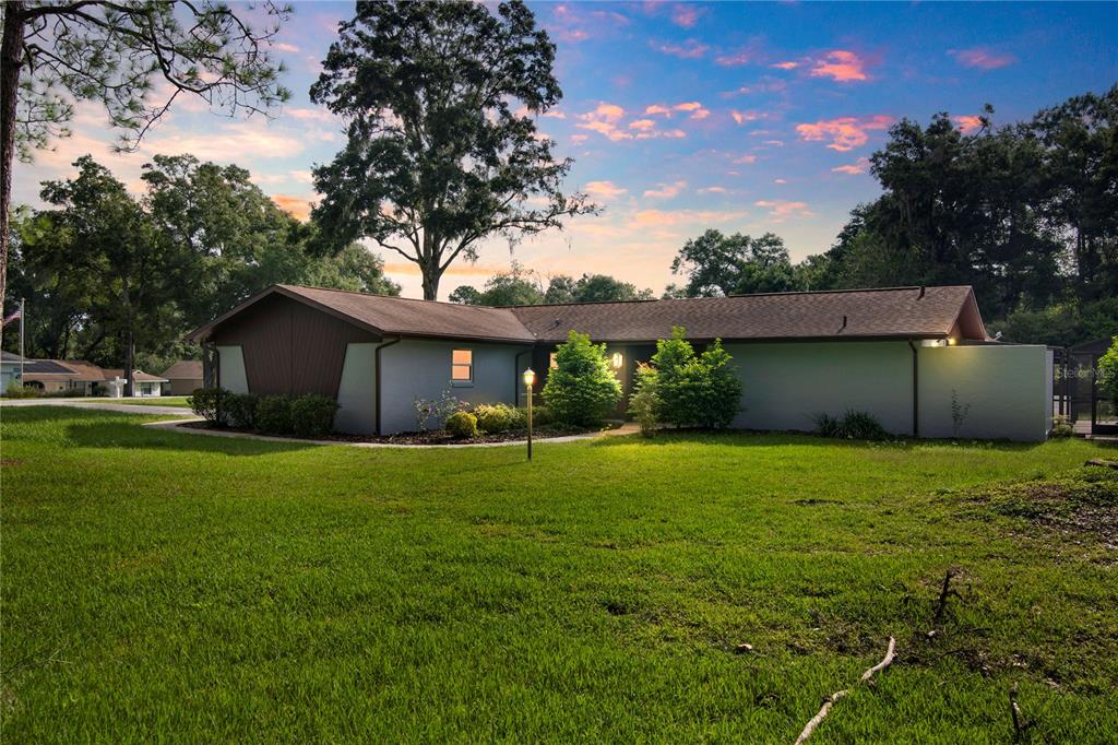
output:
<svg viewBox="0 0 1118 745"><path fill-rule="evenodd" d="M869 412L894 434L912 433L912 357L904 341L728 343L750 430L815 428L819 414Z"/></svg>

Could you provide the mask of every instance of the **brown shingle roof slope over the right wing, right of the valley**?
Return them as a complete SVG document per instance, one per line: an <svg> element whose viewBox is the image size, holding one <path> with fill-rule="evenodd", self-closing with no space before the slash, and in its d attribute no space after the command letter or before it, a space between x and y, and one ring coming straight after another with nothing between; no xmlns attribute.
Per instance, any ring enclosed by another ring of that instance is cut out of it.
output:
<svg viewBox="0 0 1118 745"><path fill-rule="evenodd" d="M967 286L899 287L531 305L513 312L541 341L561 341L571 329L595 341L652 341L671 336L673 326L685 327L692 339L902 338L947 336L973 302ZM964 336L985 338L985 330L972 323Z"/></svg>

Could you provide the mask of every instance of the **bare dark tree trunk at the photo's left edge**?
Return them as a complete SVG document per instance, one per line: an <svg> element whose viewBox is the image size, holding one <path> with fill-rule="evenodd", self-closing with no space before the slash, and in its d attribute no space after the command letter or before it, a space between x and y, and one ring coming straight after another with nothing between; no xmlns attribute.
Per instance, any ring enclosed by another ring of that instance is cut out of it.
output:
<svg viewBox="0 0 1118 745"><path fill-rule="evenodd" d="M23 63L23 0L9 0L3 13L0 49L0 308L8 289L8 213L11 209L11 166L16 160L16 98Z"/></svg>

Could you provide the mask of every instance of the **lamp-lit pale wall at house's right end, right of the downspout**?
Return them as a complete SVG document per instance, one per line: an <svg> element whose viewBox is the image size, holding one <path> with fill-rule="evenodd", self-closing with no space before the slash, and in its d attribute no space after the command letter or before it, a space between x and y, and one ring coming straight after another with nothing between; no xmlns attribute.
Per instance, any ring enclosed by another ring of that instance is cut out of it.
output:
<svg viewBox="0 0 1118 745"><path fill-rule="evenodd" d="M1052 355L1041 346L920 349L920 435L956 436L951 393L969 406L959 437L1040 442L1052 415Z"/></svg>

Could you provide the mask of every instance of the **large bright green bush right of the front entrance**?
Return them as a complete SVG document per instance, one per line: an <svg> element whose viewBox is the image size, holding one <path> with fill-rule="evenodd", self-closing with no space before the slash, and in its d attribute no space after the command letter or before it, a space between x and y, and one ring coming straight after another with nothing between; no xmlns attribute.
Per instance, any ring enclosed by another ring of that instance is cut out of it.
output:
<svg viewBox="0 0 1118 745"><path fill-rule="evenodd" d="M685 333L674 327L672 338L657 341L652 356L660 417L676 426L729 426L741 411L741 381L731 357L721 339L695 356Z"/></svg>

